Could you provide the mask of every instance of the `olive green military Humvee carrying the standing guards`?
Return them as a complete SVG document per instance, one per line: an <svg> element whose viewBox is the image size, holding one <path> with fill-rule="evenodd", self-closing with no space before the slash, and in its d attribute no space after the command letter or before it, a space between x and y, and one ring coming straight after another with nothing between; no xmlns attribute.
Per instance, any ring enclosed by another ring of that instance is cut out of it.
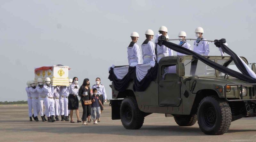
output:
<svg viewBox="0 0 256 142"><path fill-rule="evenodd" d="M229 56L205 57L239 72ZM176 66L176 73L166 74L165 68L171 66ZM163 113L172 115L180 126L198 121L205 134L221 135L232 121L256 116L256 84L224 74L193 56L164 57L156 80L145 91L134 92L132 86L131 81L125 91L118 92L110 85L112 119L121 119L126 129L140 129L144 117Z"/></svg>

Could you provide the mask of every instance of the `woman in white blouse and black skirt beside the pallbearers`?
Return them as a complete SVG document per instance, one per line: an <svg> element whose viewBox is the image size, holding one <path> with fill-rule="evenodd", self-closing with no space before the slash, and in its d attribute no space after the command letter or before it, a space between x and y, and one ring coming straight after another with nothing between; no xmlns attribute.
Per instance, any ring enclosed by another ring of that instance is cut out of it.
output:
<svg viewBox="0 0 256 142"><path fill-rule="evenodd" d="M78 90L79 90L79 85L78 83L78 78L74 77L73 82L71 85L69 85L69 96L68 96L68 110L70 110L70 123L75 123L73 121L73 110L76 110L76 117L77 117L77 123L82 122L79 120L79 110L78 110Z"/></svg>

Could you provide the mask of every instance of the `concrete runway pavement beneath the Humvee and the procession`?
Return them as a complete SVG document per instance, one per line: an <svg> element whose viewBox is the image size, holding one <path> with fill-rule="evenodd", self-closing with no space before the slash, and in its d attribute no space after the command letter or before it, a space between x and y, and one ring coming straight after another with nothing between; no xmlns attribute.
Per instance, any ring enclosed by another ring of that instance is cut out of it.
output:
<svg viewBox="0 0 256 142"><path fill-rule="evenodd" d="M80 105L81 106L81 105ZM80 107L79 106L79 107ZM173 117L151 114L139 130L124 129L120 120L111 120L111 108L106 104L98 125L70 122L29 122L27 105L0 106L0 142L2 141L95 141L95 142L164 142L164 141L256 141L256 118L243 118L231 123L227 133L205 135L196 123L179 127ZM82 108L79 108L80 117ZM76 116L75 116L76 117ZM41 120L41 117L39 117ZM76 122L76 118L74 121Z"/></svg>

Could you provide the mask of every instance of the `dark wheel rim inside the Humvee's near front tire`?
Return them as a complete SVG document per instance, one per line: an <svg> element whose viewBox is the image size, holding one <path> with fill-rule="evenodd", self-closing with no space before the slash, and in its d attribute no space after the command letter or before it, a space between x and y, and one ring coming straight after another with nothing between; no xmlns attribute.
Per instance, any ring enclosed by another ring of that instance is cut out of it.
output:
<svg viewBox="0 0 256 142"><path fill-rule="evenodd" d="M216 122L216 113L213 107L206 107L203 112L204 123L207 126L213 126Z"/></svg>

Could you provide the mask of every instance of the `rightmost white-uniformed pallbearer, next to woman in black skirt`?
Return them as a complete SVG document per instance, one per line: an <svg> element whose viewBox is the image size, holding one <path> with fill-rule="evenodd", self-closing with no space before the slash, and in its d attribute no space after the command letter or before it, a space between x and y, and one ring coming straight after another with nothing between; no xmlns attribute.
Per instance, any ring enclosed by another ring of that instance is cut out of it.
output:
<svg viewBox="0 0 256 142"><path fill-rule="evenodd" d="M73 80L69 79L69 86L72 84ZM68 110L68 95L69 95L69 87L67 86L61 86L60 87L60 94L61 97L63 96L63 107L64 107L64 116L65 116L65 121L69 121L68 117L69 117L69 110ZM63 116L63 117L64 117ZM62 116L61 116L62 119Z"/></svg>

